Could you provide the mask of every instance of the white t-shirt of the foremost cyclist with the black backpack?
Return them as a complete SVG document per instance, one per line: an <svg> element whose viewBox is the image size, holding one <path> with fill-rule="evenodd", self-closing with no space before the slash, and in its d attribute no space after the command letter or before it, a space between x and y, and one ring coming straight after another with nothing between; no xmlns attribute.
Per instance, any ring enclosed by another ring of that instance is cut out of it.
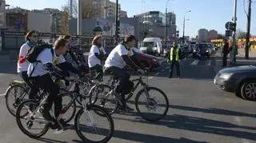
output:
<svg viewBox="0 0 256 143"><path fill-rule="evenodd" d="M55 50L53 57L51 50L49 48L42 50L42 52L38 55L37 61L40 62L30 63L30 66L27 70L27 74L30 76L30 73L34 69L34 72L31 74L31 77L43 76L46 73L49 73L47 70L43 70L42 68L42 66L46 63L52 63L55 66L62 62L66 62L65 58L62 55L57 57L57 55L55 54Z"/></svg>

